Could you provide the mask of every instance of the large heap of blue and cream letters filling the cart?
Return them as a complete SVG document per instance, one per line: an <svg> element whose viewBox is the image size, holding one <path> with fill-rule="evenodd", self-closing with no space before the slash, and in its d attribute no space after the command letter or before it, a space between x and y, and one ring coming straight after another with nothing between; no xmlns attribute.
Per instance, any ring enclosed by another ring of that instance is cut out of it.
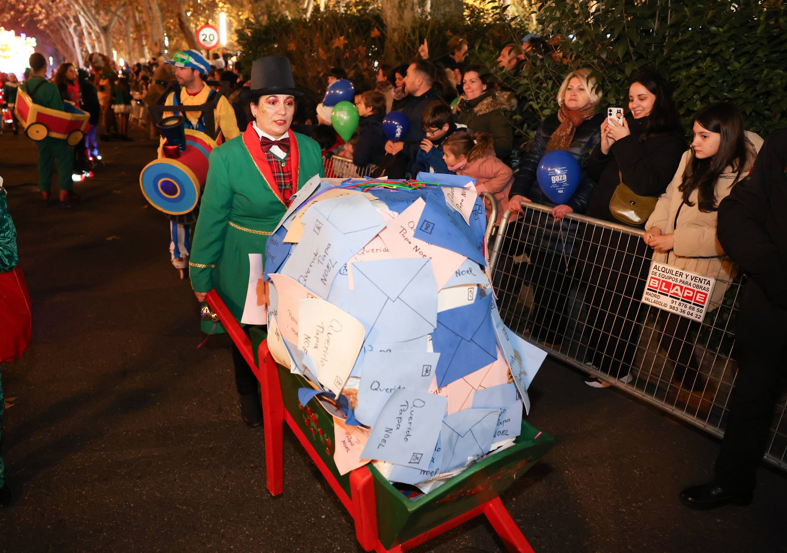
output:
<svg viewBox="0 0 787 553"><path fill-rule="evenodd" d="M268 238L268 347L334 415L338 470L423 492L519 436L545 358L501 321L475 182L312 179ZM382 183L381 183L382 184Z"/></svg>

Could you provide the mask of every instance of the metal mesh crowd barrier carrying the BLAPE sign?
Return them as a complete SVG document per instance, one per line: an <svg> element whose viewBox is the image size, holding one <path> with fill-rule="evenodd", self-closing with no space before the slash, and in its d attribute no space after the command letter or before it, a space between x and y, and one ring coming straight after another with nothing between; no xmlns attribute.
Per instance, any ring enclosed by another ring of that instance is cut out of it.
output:
<svg viewBox="0 0 787 553"><path fill-rule="evenodd" d="M652 249L642 230L544 205L506 211L490 257L498 306L519 336L708 433L722 436L735 383L738 296L745 277L729 258L714 275L702 323L641 303ZM667 260L669 263L669 260ZM702 273L711 267L701 260ZM689 269L690 270L690 269ZM766 460L787 470L781 396Z"/></svg>

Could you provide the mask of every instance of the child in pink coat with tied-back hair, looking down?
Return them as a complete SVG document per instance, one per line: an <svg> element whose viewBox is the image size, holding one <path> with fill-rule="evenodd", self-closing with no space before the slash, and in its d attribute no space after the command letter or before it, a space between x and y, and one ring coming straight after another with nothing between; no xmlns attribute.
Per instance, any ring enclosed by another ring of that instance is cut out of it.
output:
<svg viewBox="0 0 787 553"><path fill-rule="evenodd" d="M514 171L494 155L492 136L486 133L469 135L456 131L443 142L443 160L449 171L475 179L478 194L490 192L497 200L497 223L503 218L508 205L508 191L514 182ZM490 203L485 201L486 215L490 216Z"/></svg>

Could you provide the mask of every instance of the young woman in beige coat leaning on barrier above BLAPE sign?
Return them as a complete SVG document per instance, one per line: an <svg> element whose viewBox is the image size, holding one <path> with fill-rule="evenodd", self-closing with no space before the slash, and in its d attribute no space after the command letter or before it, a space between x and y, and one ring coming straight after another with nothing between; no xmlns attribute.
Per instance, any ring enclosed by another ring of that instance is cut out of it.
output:
<svg viewBox="0 0 787 553"><path fill-rule="evenodd" d="M716 237L719 202L752 169L763 139L744 131L736 105L710 105L697 113L691 149L645 223L642 239L655 251L653 260L716 279L708 312L719 307L737 266L724 259ZM706 319L708 314L705 315ZM689 335L700 323L662 312L660 345L674 362L672 382L685 389L704 389Z"/></svg>

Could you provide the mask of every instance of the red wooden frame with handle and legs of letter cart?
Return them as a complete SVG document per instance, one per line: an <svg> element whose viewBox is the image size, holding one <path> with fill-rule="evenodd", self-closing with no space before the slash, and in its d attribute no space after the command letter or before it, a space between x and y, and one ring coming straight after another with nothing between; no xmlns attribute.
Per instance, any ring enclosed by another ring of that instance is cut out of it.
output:
<svg viewBox="0 0 787 553"><path fill-rule="evenodd" d="M284 462L283 462L283 422L286 422L297 437L301 445L309 453L309 457L316 464L323 474L323 477L331 485L336 496L345 506L345 509L352 515L355 522L355 533L364 551L376 551L377 553L401 553L408 551L433 537L448 532L450 529L475 518L480 514L486 515L493 529L500 536L501 540L508 548L508 551L516 553L534 553L533 547L527 542L519 526L516 525L511 514L508 513L499 497L482 503L460 514L458 517L445 522L428 532L420 534L399 544L392 549L386 549L377 535L377 511L375 508L375 488L374 477L366 466L361 466L349 474L350 496L339 485L338 481L331 474L323 459L306 438L297 422L284 408L284 402L279 384L279 371L276 362L268 351L268 344L263 341L258 351L260 365L254 361L252 345L249 337L243 332L238 321L231 314L230 310L221 300L215 289L208 293L208 304L212 311L218 316L224 330L230 335L232 341L249 363L257 380L260 381L260 396L262 400L262 411L264 417L264 437L265 437L265 474L268 479L268 491L274 496L278 496L284 491Z"/></svg>

